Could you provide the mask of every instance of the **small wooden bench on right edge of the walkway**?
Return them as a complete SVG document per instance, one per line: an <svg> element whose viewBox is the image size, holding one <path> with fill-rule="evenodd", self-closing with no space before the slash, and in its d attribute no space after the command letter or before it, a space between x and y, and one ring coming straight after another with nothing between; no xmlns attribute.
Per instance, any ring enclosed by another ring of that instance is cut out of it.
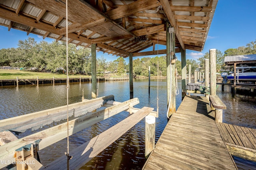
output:
<svg viewBox="0 0 256 170"><path fill-rule="evenodd" d="M216 95L209 95L210 106L215 109L215 121L222 123L222 109L226 109L226 105Z"/></svg>

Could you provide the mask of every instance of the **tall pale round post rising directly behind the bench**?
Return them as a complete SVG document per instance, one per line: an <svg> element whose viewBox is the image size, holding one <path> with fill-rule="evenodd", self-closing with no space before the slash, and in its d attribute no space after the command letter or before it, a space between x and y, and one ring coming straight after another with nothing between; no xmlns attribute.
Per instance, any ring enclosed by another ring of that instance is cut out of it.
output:
<svg viewBox="0 0 256 170"><path fill-rule="evenodd" d="M210 49L210 89L216 95L216 49Z"/></svg>

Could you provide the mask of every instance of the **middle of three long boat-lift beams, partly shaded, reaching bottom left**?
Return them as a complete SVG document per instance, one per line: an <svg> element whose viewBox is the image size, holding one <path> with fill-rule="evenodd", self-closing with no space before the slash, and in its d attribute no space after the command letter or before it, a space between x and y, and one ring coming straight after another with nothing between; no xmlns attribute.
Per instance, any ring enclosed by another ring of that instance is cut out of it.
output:
<svg viewBox="0 0 256 170"><path fill-rule="evenodd" d="M104 110L100 110L97 112L92 112L90 114L82 115L79 118L73 119L69 121L69 135L77 133L86 127L90 127L91 125L98 123L108 117L116 115L121 111L124 111L130 106L134 106L139 103L138 98L134 98L132 100L128 100L126 102L122 102L122 104L118 104L116 106L108 107ZM122 129L122 128L121 128ZM48 147L64 138L67 137L67 123L62 123L60 125L56 125L54 127L45 129L38 133L34 133L32 135L20 138L14 142L7 143L3 146L0 146L0 158L2 161L13 162L15 161L14 153L16 149L24 147L25 145L34 143L34 141L41 140L38 144L38 150L42 150L45 147ZM9 160L9 161L8 161ZM4 168L7 166L6 164L0 164L0 168Z"/></svg>

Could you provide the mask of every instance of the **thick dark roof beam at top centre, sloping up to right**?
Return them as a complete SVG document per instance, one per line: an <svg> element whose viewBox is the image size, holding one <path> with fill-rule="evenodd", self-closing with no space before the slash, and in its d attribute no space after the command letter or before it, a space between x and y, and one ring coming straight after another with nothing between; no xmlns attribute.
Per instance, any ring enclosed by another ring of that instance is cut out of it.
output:
<svg viewBox="0 0 256 170"><path fill-rule="evenodd" d="M148 10L151 8L155 8L157 6L160 6L160 3L158 0L150 0L150 1L138 0L138 1L132 2L128 5L120 6L114 10L108 11L105 14L107 16L109 16L109 18L111 18L112 20L116 20L118 18L129 16L131 14L140 12L142 10Z"/></svg>

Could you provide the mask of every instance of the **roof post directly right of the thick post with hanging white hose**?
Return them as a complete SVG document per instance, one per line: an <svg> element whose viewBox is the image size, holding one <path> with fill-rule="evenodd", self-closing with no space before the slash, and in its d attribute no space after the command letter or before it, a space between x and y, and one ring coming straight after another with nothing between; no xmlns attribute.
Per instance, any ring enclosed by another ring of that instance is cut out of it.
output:
<svg viewBox="0 0 256 170"><path fill-rule="evenodd" d="M186 76L187 76L187 63L186 63L186 50L181 48L181 88L182 100L186 96Z"/></svg>

